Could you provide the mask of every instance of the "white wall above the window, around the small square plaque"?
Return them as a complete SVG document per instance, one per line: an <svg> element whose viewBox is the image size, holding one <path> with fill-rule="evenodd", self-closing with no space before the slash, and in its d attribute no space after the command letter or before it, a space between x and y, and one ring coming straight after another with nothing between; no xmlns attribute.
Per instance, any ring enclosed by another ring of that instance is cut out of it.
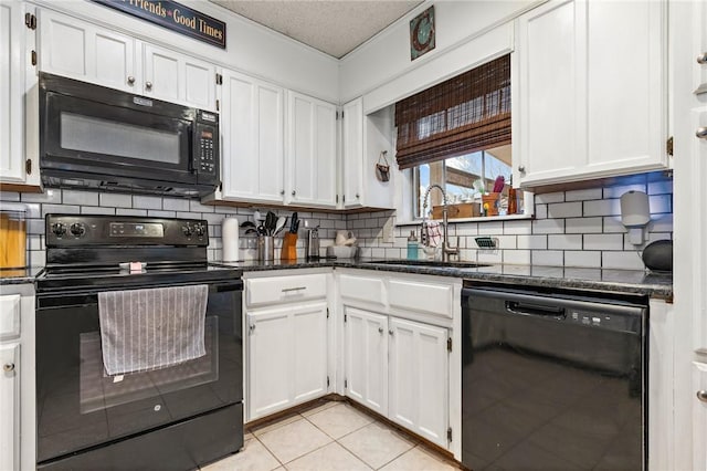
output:
<svg viewBox="0 0 707 471"><path fill-rule="evenodd" d="M436 46L414 62L410 60L410 20L434 3ZM492 32L496 27L507 23L509 20L540 3L535 0L498 1L498 0L468 0L468 1L425 1L409 14L398 20L394 24L372 38L356 51L347 54L340 62L340 97L347 102L358 96L379 88L381 85L390 85L397 78L404 77L428 63L435 62L434 67L413 81L409 78L404 84L395 86L398 95L394 100L410 95L419 90L440 82L455 72L469 69L476 59L468 57L466 64L460 63L456 57L452 63L446 63L450 53L458 48L467 45L475 38ZM513 36L507 36L506 44L513 43ZM510 32L511 34L511 32ZM391 102L379 100L374 106L366 106L367 111L374 111ZM394 101L393 100L393 101Z"/></svg>

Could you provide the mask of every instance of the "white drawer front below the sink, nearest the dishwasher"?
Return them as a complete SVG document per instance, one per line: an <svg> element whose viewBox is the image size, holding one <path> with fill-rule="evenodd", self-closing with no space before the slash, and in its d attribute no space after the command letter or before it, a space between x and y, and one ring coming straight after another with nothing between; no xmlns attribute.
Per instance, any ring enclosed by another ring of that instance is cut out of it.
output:
<svg viewBox="0 0 707 471"><path fill-rule="evenodd" d="M449 284L391 280L388 293L391 307L452 317L453 290Z"/></svg>

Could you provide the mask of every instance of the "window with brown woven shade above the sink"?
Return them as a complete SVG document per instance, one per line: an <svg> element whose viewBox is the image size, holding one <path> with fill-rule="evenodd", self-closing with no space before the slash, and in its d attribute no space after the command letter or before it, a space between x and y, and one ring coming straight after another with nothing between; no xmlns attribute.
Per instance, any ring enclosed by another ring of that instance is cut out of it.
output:
<svg viewBox="0 0 707 471"><path fill-rule="evenodd" d="M451 203L475 202L499 176L505 209L511 175L510 55L398 102L395 126L395 159L399 168L412 169L416 218L430 185L443 187ZM433 191L428 210L441 203L442 195Z"/></svg>

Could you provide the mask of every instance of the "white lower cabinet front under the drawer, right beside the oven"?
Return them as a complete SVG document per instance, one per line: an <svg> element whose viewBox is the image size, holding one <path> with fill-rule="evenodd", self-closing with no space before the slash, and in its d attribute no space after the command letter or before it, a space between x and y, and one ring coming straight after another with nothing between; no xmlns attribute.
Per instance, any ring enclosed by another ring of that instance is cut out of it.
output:
<svg viewBox="0 0 707 471"><path fill-rule="evenodd" d="M327 391L325 301L246 313L249 420Z"/></svg>

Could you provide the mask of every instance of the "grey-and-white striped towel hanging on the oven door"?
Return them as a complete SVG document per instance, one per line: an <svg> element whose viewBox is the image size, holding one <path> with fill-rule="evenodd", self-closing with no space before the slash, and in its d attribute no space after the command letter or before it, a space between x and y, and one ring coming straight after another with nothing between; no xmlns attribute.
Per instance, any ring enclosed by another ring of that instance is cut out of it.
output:
<svg viewBox="0 0 707 471"><path fill-rule="evenodd" d="M108 375L165 368L207 354L205 284L98 293Z"/></svg>

